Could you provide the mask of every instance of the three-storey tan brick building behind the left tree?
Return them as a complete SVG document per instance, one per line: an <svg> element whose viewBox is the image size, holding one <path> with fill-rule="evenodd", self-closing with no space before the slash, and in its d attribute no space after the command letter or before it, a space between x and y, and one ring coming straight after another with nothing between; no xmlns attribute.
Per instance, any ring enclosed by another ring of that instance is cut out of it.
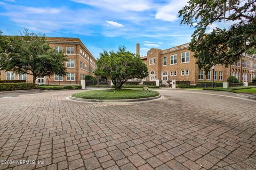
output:
<svg viewBox="0 0 256 170"><path fill-rule="evenodd" d="M85 75L93 75L96 60L79 38L46 37L46 40L57 52L63 52L67 56L68 61L65 63L67 75L37 78L38 84L80 84ZM33 76L1 71L1 80L33 82Z"/></svg>

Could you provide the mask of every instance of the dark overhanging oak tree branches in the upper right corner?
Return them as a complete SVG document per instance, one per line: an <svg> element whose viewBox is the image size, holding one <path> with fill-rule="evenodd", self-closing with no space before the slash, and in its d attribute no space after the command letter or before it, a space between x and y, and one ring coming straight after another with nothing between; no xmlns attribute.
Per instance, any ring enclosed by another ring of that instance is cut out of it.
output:
<svg viewBox="0 0 256 170"><path fill-rule="evenodd" d="M214 64L228 66L248 50L255 51L255 3L256 0L229 0L228 3L227 0L190 0L179 11L181 24L195 27L189 49L195 52L199 68L209 70ZM207 28L216 22L231 25L207 34Z"/></svg>

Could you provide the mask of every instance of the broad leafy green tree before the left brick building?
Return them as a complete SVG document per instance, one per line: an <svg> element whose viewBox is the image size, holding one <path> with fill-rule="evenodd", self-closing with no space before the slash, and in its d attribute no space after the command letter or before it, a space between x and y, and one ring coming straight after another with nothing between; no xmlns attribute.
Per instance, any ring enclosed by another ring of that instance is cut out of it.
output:
<svg viewBox="0 0 256 170"><path fill-rule="evenodd" d="M21 36L7 36L7 39L8 45L0 53L2 70L33 75L34 83L37 77L66 74L66 56L55 52L41 33L25 29Z"/></svg>

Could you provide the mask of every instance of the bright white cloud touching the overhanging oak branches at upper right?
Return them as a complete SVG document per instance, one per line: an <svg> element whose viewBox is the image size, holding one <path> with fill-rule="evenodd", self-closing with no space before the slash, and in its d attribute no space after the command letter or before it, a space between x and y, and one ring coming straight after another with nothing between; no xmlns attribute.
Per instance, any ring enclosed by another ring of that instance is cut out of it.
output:
<svg viewBox="0 0 256 170"><path fill-rule="evenodd" d="M173 22L178 19L178 11L187 4L187 0L172 0L169 4L157 9L156 19Z"/></svg>

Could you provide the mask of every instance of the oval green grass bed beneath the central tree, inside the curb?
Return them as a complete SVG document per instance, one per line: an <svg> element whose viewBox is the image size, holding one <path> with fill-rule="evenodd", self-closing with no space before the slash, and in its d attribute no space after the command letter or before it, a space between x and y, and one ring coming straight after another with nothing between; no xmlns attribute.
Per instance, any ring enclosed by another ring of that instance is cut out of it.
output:
<svg viewBox="0 0 256 170"><path fill-rule="evenodd" d="M116 94L114 93L116 92ZM73 94L72 97L84 99L137 99L158 96L157 91L135 90L135 89L107 89L107 90L90 90Z"/></svg>

